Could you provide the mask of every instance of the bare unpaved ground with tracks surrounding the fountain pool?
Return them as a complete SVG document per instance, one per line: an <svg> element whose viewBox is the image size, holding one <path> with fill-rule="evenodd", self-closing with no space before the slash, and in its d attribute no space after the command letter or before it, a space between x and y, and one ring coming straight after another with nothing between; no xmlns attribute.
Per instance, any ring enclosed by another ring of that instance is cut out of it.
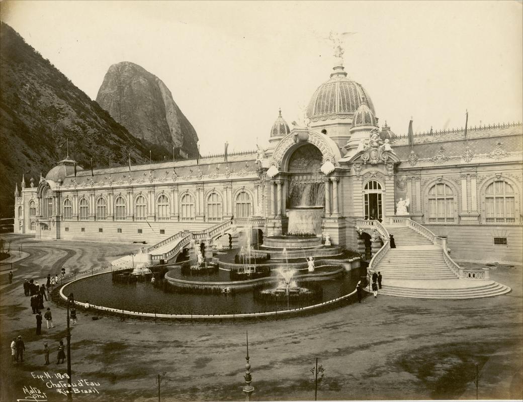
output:
<svg viewBox="0 0 523 402"><path fill-rule="evenodd" d="M37 337L21 283L43 279L63 265L96 268L138 246L9 237L12 247L23 241L30 256L14 263L12 285L5 267L0 275L0 400L27 398L24 386L46 392L50 401L66 400L31 375L66 372L65 363L55 363L58 341L65 341L65 311L44 302L52 307L56 328L48 331L44 325ZM521 399L522 268L498 266L491 277L513 291L464 301L382 295L312 317L259 324L94 321L79 314L72 331L73 382L83 378L100 385L99 394L74 399L154 401L157 374L165 372L162 400L242 400L246 330L254 400L313 399L309 370L316 357L325 367L319 399L475 399L475 364L480 399ZM15 335L26 342L20 364L10 362L9 343ZM52 350L49 366L43 365L44 340Z"/></svg>

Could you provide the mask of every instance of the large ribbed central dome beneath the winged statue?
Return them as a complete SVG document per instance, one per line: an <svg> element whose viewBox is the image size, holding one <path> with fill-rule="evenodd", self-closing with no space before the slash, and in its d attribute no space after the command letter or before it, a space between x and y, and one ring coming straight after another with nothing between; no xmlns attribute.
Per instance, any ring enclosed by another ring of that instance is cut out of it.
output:
<svg viewBox="0 0 523 402"><path fill-rule="evenodd" d="M316 89L307 107L311 122L327 119L352 119L354 113L365 101L376 116L367 91L357 82L347 78L343 66L333 68L331 79Z"/></svg>

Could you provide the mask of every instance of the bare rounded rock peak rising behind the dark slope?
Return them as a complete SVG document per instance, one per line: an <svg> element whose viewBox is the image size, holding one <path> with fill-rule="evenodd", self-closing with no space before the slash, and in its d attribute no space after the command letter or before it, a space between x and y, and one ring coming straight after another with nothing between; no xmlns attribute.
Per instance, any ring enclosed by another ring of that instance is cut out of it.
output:
<svg viewBox="0 0 523 402"><path fill-rule="evenodd" d="M121 62L107 71L98 104L139 139L196 157L195 129L162 80L137 64Z"/></svg>

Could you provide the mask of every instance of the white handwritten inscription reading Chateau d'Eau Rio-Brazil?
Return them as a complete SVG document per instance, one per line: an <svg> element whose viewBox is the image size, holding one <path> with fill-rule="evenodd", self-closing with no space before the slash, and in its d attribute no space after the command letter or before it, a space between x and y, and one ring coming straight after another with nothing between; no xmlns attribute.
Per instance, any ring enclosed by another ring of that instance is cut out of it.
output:
<svg viewBox="0 0 523 402"><path fill-rule="evenodd" d="M66 373L49 373L44 371L42 374L31 372L31 376L36 380L41 380L48 389L54 389L61 395L68 394L99 394L98 388L100 383L89 381L85 378L74 380L69 384L69 375ZM24 387L24 397L26 399L17 399L17 401L46 401L47 396L36 387Z"/></svg>

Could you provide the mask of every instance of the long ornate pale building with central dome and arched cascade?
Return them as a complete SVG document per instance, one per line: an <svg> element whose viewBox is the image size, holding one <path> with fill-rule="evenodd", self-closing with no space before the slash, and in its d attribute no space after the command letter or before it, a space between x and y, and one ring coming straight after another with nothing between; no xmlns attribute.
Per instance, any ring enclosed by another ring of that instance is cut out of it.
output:
<svg viewBox="0 0 523 402"><path fill-rule="evenodd" d="M521 262L521 123L469 128L467 139L463 130L431 130L410 143L386 123L379 129L369 94L342 65L306 114L308 122L290 130L280 112L265 150L198 164L75 171L66 158L38 183L22 179L15 233L156 243L234 217L265 235L303 224L333 244L368 251L356 221L387 222L408 200L407 216L447 237L454 258ZM309 215L304 205L313 207Z"/></svg>

